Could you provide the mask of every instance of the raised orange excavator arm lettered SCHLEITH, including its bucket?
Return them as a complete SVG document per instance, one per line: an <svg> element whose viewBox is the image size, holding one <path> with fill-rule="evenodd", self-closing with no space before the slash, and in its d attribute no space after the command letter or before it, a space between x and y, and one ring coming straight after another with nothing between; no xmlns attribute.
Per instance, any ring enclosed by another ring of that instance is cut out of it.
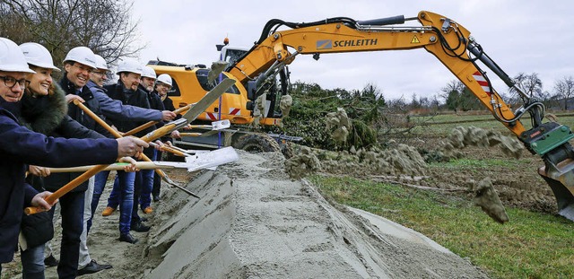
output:
<svg viewBox="0 0 574 279"><path fill-rule="evenodd" d="M404 27L406 21L421 26ZM278 31L279 27L290 29ZM395 16L371 21L332 18L321 22L293 23L271 20L261 38L243 57L227 69L255 100L262 94L270 76L281 73L299 55L358 51L383 51L424 48L474 93L492 116L518 137L531 153L540 155L544 166L538 170L558 202L559 214L574 221L574 150L569 140L570 127L555 122L543 123L544 105L519 88L499 65L494 63L457 22L437 13L422 11L417 17ZM486 65L511 90L520 94L524 104L512 111L492 88L491 81L478 63ZM531 127L520 122L526 112Z"/></svg>

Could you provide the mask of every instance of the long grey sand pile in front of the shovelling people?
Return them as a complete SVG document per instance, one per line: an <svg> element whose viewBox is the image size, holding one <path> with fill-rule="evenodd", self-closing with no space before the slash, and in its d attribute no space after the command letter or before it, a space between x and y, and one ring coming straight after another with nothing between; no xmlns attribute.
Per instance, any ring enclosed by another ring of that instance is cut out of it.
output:
<svg viewBox="0 0 574 279"><path fill-rule="evenodd" d="M289 179L282 154L239 154L187 186L201 200L166 196L141 256L144 278L486 278L414 231L335 209Z"/></svg>

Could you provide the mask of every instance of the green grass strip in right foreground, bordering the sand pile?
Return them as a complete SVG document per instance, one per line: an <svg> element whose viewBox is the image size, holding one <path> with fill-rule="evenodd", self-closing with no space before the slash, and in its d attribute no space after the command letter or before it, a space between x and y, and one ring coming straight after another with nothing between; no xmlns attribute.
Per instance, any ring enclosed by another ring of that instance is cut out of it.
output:
<svg viewBox="0 0 574 279"><path fill-rule="evenodd" d="M574 278L574 223L550 214L507 209L493 222L457 196L361 179L314 176L327 199L420 231L492 278Z"/></svg>

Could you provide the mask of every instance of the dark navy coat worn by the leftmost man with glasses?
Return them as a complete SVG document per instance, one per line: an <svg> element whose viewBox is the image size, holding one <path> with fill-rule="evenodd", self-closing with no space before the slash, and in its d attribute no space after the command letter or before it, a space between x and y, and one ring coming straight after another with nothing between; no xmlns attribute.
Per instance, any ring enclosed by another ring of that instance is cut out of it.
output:
<svg viewBox="0 0 574 279"><path fill-rule="evenodd" d="M0 98L0 263L13 260L22 210L37 193L24 183L27 164L72 167L117 159L116 140L48 137L21 126L4 106L13 103Z"/></svg>

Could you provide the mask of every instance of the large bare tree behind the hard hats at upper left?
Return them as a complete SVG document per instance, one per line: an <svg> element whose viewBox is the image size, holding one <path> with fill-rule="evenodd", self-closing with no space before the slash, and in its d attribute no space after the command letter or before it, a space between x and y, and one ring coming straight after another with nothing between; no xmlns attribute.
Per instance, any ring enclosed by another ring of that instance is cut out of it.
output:
<svg viewBox="0 0 574 279"><path fill-rule="evenodd" d="M71 48L85 46L113 65L119 57L136 57L144 47L132 6L126 0L0 0L0 27L17 43L44 45L57 63Z"/></svg>

